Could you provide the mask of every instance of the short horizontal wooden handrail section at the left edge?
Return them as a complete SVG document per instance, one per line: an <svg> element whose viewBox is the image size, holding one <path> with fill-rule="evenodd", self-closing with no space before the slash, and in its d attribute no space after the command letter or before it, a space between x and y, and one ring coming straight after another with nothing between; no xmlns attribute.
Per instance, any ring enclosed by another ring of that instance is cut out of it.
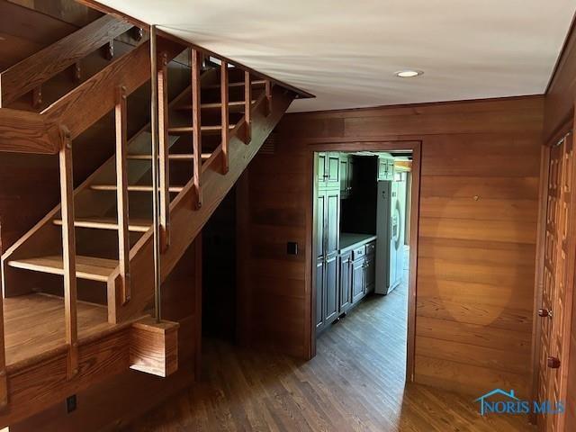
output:
<svg viewBox="0 0 576 432"><path fill-rule="evenodd" d="M55 155L58 127L36 112L0 109L0 151Z"/></svg>

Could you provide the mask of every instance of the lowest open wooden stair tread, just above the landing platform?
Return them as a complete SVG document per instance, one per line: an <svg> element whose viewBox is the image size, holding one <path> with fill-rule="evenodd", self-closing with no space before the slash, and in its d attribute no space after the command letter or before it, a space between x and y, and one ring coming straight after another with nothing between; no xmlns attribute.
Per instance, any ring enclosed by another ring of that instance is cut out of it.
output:
<svg viewBox="0 0 576 432"><path fill-rule="evenodd" d="M14 259L8 262L8 266L52 275L64 275L62 257L58 255ZM107 282L117 266L118 261L113 259L76 255L76 277L80 279Z"/></svg>

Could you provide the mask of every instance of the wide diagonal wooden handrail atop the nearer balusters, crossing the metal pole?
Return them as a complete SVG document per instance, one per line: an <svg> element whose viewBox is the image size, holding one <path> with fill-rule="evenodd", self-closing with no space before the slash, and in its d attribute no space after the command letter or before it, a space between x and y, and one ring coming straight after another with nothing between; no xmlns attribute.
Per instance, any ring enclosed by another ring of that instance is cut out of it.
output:
<svg viewBox="0 0 576 432"><path fill-rule="evenodd" d="M166 52L167 61L182 51L170 40L158 40L160 51ZM87 79L81 85L55 103L49 105L42 115L49 122L66 124L71 139L111 112L116 104L116 88L126 87L126 94L132 94L150 78L149 41L142 43L108 67Z"/></svg>

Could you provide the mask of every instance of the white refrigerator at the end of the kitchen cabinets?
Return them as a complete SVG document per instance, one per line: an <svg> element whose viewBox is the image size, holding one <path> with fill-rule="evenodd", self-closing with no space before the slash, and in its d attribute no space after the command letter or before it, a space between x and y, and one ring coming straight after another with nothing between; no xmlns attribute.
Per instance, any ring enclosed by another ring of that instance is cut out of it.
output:
<svg viewBox="0 0 576 432"><path fill-rule="evenodd" d="M402 282L404 250L404 196L400 181L378 182L376 206L376 286L387 294Z"/></svg>

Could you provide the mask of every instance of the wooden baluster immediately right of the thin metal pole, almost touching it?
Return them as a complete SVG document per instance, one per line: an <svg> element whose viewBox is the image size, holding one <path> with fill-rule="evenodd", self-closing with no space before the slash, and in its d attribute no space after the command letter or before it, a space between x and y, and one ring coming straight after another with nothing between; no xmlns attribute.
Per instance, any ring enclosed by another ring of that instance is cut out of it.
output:
<svg viewBox="0 0 576 432"><path fill-rule="evenodd" d="M160 184L160 247L170 245L170 171L168 139L168 58L163 52L157 67Z"/></svg>

